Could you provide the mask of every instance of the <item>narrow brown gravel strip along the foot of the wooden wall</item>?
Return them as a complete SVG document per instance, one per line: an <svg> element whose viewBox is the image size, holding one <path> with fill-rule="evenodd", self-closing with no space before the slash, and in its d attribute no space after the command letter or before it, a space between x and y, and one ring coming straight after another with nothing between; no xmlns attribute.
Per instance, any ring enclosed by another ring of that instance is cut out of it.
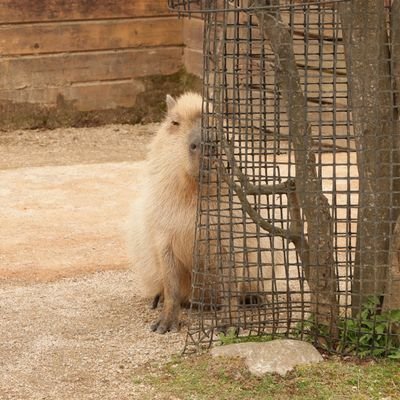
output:
<svg viewBox="0 0 400 400"><path fill-rule="evenodd" d="M158 124L0 131L0 169L137 161Z"/></svg>

